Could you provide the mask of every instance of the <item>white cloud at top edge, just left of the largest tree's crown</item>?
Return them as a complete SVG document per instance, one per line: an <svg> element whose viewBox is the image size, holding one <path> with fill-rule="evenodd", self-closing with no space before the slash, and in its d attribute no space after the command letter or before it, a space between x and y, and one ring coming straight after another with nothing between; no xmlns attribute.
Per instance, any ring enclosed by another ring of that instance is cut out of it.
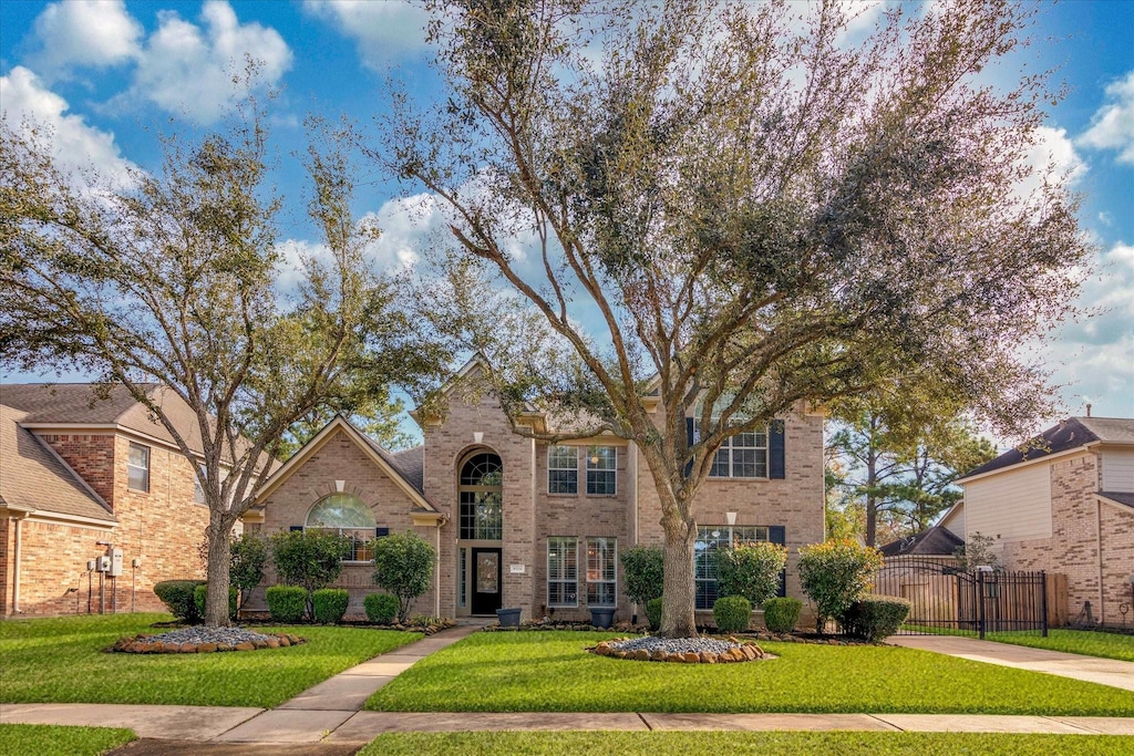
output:
<svg viewBox="0 0 1134 756"><path fill-rule="evenodd" d="M303 8L354 40L358 57L373 69L425 46L429 17L405 0L304 0Z"/></svg>

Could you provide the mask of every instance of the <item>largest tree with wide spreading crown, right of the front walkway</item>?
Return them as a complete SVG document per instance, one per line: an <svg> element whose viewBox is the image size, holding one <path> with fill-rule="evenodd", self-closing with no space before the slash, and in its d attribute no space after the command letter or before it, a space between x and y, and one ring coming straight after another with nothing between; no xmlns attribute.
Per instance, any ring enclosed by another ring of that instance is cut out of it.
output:
<svg viewBox="0 0 1134 756"><path fill-rule="evenodd" d="M569 346L503 366L509 406L576 407L579 434L641 450L662 632L695 632L696 493L726 439L912 375L1007 431L1050 396L1021 345L1068 313L1089 249L1064 177L1027 160L1046 78L984 78L1034 7L899 3L855 41L837 2L431 5L448 93L396 93L381 154L440 198L451 258Z"/></svg>

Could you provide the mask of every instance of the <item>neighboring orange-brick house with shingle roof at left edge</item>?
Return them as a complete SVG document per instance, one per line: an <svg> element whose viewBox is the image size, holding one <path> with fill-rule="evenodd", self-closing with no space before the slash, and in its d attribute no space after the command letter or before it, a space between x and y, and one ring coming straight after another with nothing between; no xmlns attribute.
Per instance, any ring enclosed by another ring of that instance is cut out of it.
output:
<svg viewBox="0 0 1134 756"><path fill-rule="evenodd" d="M192 448L200 434L172 392L152 397ZM209 510L193 466L149 410L116 387L0 385L0 606L5 617L163 611L153 585L203 576ZM121 550L119 577L87 562Z"/></svg>

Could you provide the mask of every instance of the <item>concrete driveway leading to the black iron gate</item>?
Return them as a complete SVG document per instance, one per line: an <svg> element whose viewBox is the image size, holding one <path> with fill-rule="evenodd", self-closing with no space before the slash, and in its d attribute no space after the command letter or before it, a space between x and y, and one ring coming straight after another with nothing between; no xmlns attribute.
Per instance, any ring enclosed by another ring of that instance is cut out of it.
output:
<svg viewBox="0 0 1134 756"><path fill-rule="evenodd" d="M960 636L894 636L888 638L887 643L905 648L921 648L938 654L959 656L974 662L1015 666L1030 672L1058 674L1059 677L1098 682L1124 690L1134 690L1134 662L1123 662L1117 659L1065 654L1059 651L1014 646L1007 643L978 640Z"/></svg>

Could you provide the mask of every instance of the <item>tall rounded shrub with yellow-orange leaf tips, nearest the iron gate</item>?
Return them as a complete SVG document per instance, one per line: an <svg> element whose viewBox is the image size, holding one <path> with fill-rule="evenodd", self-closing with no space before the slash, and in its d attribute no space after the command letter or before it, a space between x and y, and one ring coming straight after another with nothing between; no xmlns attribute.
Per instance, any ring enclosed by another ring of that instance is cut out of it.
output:
<svg viewBox="0 0 1134 756"><path fill-rule="evenodd" d="M831 540L799 550L799 581L815 602L815 629L828 618L839 622L850 605L873 587L871 578L882 566L882 553L849 538Z"/></svg>

